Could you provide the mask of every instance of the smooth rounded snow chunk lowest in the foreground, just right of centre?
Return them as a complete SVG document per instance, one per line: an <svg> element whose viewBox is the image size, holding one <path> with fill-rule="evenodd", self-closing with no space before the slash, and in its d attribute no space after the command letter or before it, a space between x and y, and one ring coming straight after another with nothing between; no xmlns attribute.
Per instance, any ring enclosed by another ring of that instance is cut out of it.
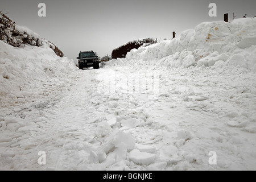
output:
<svg viewBox="0 0 256 182"><path fill-rule="evenodd" d="M156 155L147 152L141 152L138 149L134 149L130 152L129 158L137 164L149 165L154 163Z"/></svg>

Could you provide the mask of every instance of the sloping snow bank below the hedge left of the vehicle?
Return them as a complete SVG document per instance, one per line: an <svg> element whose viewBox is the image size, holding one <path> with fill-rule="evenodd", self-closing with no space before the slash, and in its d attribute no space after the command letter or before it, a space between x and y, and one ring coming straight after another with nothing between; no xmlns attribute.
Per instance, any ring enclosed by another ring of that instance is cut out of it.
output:
<svg viewBox="0 0 256 182"><path fill-rule="evenodd" d="M25 27L19 30L32 33ZM26 90L45 82L52 77L67 75L75 69L75 64L67 57L59 57L47 40L40 38L42 46L31 46L26 44L16 48L0 41L0 98L1 107L17 102L26 96Z"/></svg>

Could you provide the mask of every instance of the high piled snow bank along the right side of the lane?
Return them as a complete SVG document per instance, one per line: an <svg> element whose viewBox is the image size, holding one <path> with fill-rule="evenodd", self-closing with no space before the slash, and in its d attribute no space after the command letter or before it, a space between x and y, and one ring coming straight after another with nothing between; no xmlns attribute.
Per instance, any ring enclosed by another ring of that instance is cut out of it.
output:
<svg viewBox="0 0 256 182"><path fill-rule="evenodd" d="M132 49L108 65L241 67L256 72L256 18L204 22L172 40Z"/></svg>

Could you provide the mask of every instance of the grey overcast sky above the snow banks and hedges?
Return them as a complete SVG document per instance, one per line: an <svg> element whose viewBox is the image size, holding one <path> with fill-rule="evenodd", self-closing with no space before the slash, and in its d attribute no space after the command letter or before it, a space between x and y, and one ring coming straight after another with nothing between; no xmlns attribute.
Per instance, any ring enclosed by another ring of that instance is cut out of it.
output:
<svg viewBox="0 0 256 182"><path fill-rule="evenodd" d="M46 4L46 17L38 4ZM209 3L216 3L217 17L210 17ZM0 10L19 26L36 32L61 49L69 59L80 51L99 56L139 38L171 39L172 32L195 28L201 22L256 15L255 0L1 0Z"/></svg>

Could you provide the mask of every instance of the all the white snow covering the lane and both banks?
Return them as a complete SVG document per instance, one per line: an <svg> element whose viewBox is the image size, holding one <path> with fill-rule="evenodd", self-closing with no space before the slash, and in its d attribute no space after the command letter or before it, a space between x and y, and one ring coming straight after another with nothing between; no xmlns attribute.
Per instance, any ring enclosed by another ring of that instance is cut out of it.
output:
<svg viewBox="0 0 256 182"><path fill-rule="evenodd" d="M255 170L255 37L205 22L84 71L0 41L0 169Z"/></svg>

